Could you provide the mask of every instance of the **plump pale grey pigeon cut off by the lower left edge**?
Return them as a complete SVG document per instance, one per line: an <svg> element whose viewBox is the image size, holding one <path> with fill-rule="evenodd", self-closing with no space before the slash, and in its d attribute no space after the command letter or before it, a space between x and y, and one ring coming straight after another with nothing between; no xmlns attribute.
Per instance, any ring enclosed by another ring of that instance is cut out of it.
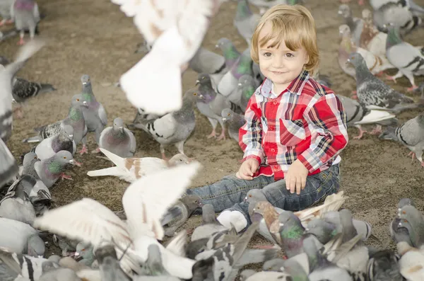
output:
<svg viewBox="0 0 424 281"><path fill-rule="evenodd" d="M0 217L0 229L7 229L0 232L0 247L29 256L44 255L45 243L29 224Z"/></svg>

